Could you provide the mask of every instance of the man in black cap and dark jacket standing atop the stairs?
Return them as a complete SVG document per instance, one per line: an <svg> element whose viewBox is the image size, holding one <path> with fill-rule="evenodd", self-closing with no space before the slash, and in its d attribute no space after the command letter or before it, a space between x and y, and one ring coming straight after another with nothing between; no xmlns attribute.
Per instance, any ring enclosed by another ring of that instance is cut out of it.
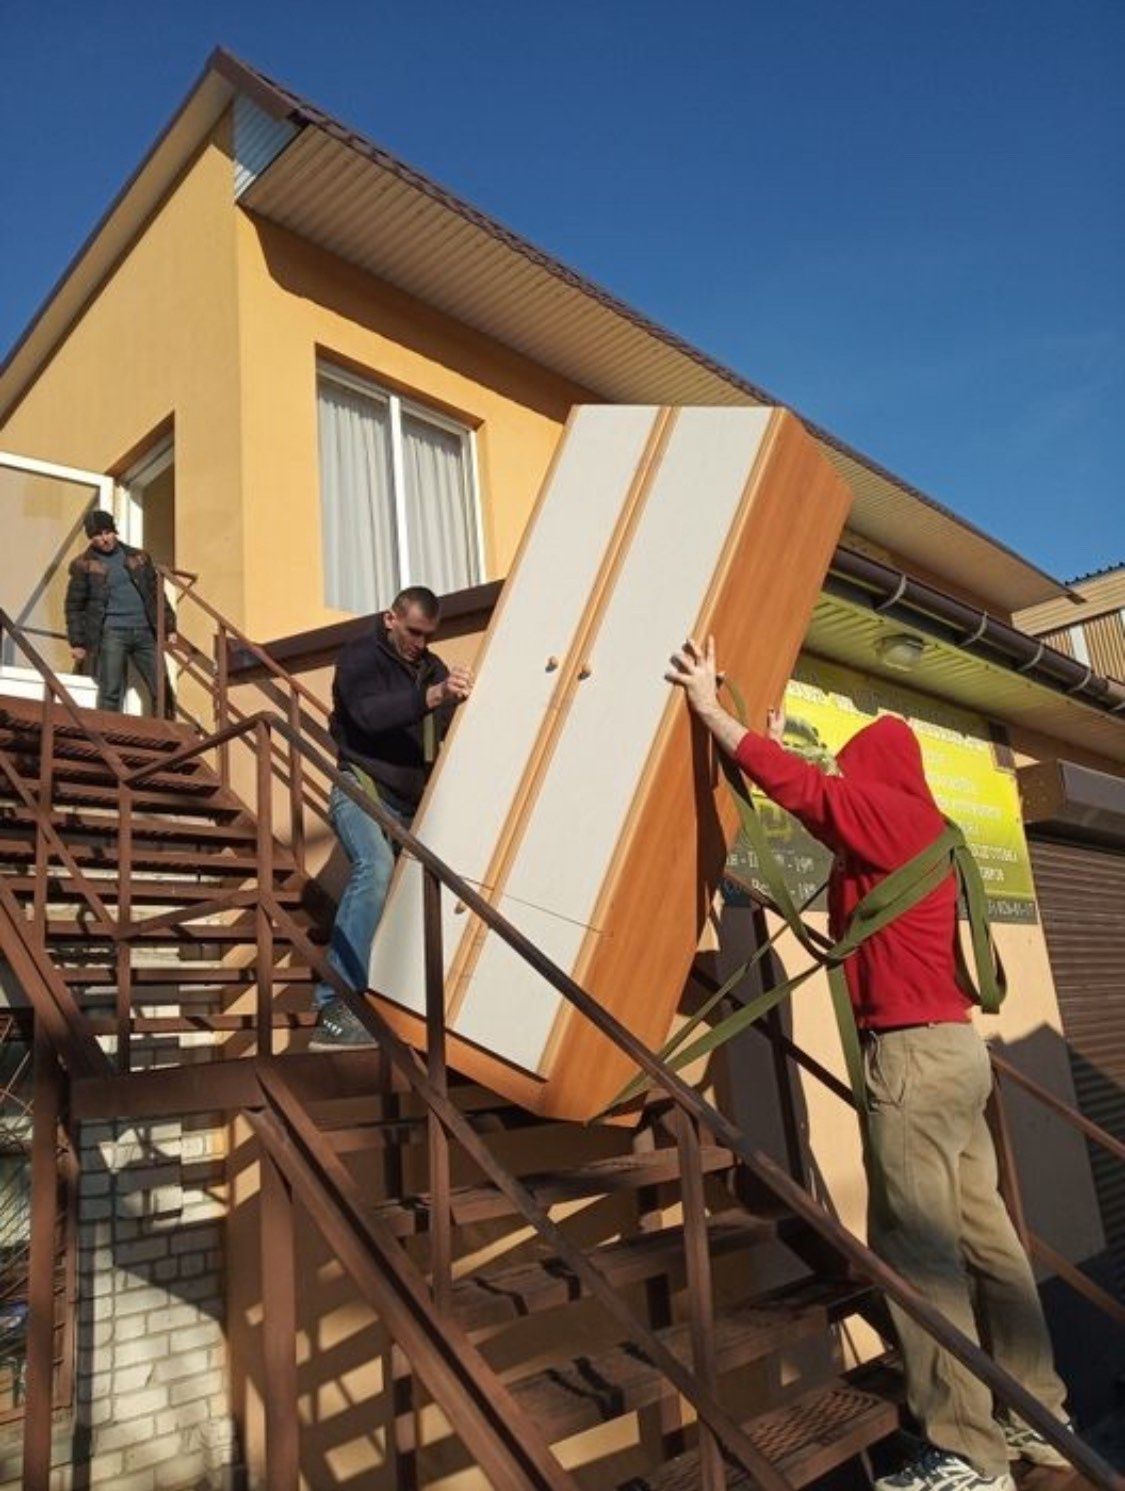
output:
<svg viewBox="0 0 1125 1491"><path fill-rule="evenodd" d="M109 513L86 513L89 549L70 565L67 641L76 666L98 684L98 708L119 714L130 661L156 710L156 607L164 607L164 634L176 641L176 616L164 596L152 559L118 538ZM171 704L171 692L167 692Z"/></svg>

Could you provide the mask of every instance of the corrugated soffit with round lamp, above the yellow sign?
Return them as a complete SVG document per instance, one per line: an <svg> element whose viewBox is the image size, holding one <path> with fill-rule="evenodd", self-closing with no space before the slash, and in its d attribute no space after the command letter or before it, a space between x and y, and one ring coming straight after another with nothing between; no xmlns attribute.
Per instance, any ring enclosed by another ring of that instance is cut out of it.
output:
<svg viewBox="0 0 1125 1491"><path fill-rule="evenodd" d="M1125 729L1121 719L1055 693L985 658L925 638L925 655L916 668L910 672L887 668L879 661L875 644L879 637L901 631L910 628L849 605L837 596L823 595L812 613L805 646L821 658L888 678L904 689L936 695L985 719L1052 735L1085 750L1100 751L1109 760L1125 762Z"/></svg>

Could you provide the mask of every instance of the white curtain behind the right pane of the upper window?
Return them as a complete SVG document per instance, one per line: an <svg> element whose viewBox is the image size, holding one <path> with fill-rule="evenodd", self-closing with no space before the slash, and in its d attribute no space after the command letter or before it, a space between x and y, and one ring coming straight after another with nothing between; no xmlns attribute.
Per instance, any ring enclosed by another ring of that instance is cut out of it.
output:
<svg viewBox="0 0 1125 1491"><path fill-rule="evenodd" d="M425 419L404 414L408 584L438 595L480 581L472 491L465 440Z"/></svg>

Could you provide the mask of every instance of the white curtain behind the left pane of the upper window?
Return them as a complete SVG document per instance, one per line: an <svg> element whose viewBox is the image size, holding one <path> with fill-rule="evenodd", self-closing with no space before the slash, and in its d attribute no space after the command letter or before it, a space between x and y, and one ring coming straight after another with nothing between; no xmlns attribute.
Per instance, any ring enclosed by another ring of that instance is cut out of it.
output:
<svg viewBox="0 0 1125 1491"><path fill-rule="evenodd" d="M387 407L331 379L317 388L325 601L367 616L399 589Z"/></svg>

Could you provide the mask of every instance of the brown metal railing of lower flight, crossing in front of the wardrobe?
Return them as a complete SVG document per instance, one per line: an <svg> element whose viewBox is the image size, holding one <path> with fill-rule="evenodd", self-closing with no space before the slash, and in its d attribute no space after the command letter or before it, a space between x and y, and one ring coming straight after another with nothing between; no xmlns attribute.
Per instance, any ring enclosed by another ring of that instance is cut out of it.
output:
<svg viewBox="0 0 1125 1491"><path fill-rule="evenodd" d="M398 820L384 813L344 774L335 769L331 760L323 757L314 747L304 741L291 729L280 716L261 713L249 717L241 725L228 726L219 735L185 747L167 759L167 765L180 765L207 753L209 750L229 746L234 740L249 740L253 737L258 760L265 759L265 743L262 734L280 734L291 747L302 751L308 765L323 774L332 786L349 796L362 811L373 817L384 833L395 839L401 850L416 859L422 868L429 890L425 896L425 939L426 939L426 1024L428 1030L444 1030L444 975L440 956L440 908L441 895L449 892L463 904L471 912L478 915L492 932L505 941L526 963L529 963L553 989L563 994L586 1018L589 1018L608 1039L621 1048L633 1063L645 1072L653 1088L678 1109L676 1141L681 1147L684 1173L688 1178L699 1164L700 1132L711 1135L714 1141L729 1148L750 1175L766 1187L782 1205L805 1221L812 1232L827 1242L860 1276L876 1285L885 1296L893 1299L906 1314L916 1320L945 1349L963 1361L977 1378L980 1378L997 1396L1000 1403L1022 1419L1031 1424L1043 1437L1055 1445L1071 1463L1088 1475L1097 1485L1116 1488L1121 1479L1113 1469L1088 1445L1082 1443L1073 1433L1061 1425L1024 1387L1007 1372L998 1367L975 1342L958 1331L940 1311L934 1309L906 1279L896 1273L888 1264L878 1258L864 1243L854 1238L840 1223L814 1200L781 1166L769 1156L755 1150L742 1132L723 1114L712 1108L699 1093L688 1087L676 1074L666 1068L642 1042L624 1026L609 1015L580 984L559 969L533 942L530 942L517 927L502 917L475 887L462 880L450 866L438 859L425 844L404 829ZM273 753L270 753L273 759ZM128 778L131 786L137 786L145 775L156 766L145 766L133 772ZM264 887L268 896L268 912L271 920L289 938L292 945L313 966L320 977L332 983L341 997L344 997L358 1018L371 1032L381 1050L389 1056L395 1069L405 1078L411 1090L426 1105L434 1124L440 1124L450 1141L454 1141L468 1157L480 1166L484 1175L496 1185L535 1227L538 1235L548 1242L563 1260L568 1269L590 1290L595 1297L618 1318L630 1331L632 1339L660 1367L668 1381L694 1406L699 1418L702 1466L714 1467L721 1457L742 1464L755 1479L772 1491L781 1491L784 1481L750 1442L745 1431L729 1418L721 1405L709 1391L708 1384L714 1381L714 1328L711 1321L711 1299L703 1288L705 1275L699 1270L693 1273L694 1287L688 1291L690 1324L693 1339L693 1367L685 1369L668 1348L633 1315L620 1299L618 1291L599 1273L598 1267L559 1230L559 1227L539 1206L532 1194L510 1175L493 1157L480 1136L471 1129L463 1115L443 1091L444 1050L438 1042L428 1051L426 1062L392 1030L367 1000L355 996L347 986L331 969L322 950L316 948L305 933L297 926L292 917L282 907L271 886ZM434 1079L438 1077L438 1081ZM440 1173L431 1179L435 1205L434 1226L438 1233L449 1227L444 1215L449 1197L449 1154L443 1145L434 1145L431 1154L438 1164ZM700 1260L708 1251L706 1220L702 1208L693 1205L685 1197L684 1208L685 1249L688 1258ZM432 1281L435 1299L447 1299L450 1290L449 1276L449 1246L440 1241L432 1260ZM711 1487L720 1487L721 1481L714 1479L711 1470ZM708 1485L708 1482L703 1482Z"/></svg>

